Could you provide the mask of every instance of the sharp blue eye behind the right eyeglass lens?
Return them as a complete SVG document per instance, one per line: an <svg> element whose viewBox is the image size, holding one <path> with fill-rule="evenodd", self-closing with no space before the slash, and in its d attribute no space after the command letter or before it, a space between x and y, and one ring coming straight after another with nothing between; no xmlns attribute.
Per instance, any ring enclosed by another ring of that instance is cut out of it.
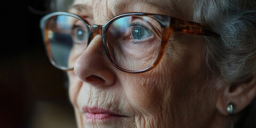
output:
<svg viewBox="0 0 256 128"><path fill-rule="evenodd" d="M134 39L145 39L150 37L152 34L142 27L134 27L132 29L132 38Z"/></svg>

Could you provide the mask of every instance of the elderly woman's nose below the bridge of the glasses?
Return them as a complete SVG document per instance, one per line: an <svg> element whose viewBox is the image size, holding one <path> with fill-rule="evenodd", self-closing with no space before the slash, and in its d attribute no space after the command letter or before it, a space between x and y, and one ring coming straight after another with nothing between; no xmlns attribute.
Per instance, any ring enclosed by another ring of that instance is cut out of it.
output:
<svg viewBox="0 0 256 128"><path fill-rule="evenodd" d="M93 86L106 87L115 83L113 65L108 60L101 35L93 35L90 45L76 60L74 72L81 81Z"/></svg>

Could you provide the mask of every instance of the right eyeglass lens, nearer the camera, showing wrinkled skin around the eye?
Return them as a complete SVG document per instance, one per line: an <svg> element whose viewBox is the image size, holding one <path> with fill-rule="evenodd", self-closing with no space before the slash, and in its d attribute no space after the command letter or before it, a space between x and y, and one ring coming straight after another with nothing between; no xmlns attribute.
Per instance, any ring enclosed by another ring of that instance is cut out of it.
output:
<svg viewBox="0 0 256 128"><path fill-rule="evenodd" d="M153 66L161 50L161 30L159 23L149 17L115 20L106 35L111 59L126 70L139 71Z"/></svg>

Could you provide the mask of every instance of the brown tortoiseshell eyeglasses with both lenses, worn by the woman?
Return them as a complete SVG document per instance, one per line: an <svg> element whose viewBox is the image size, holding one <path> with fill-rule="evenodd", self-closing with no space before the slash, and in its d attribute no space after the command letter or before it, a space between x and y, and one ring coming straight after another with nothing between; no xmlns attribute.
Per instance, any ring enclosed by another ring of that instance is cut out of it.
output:
<svg viewBox="0 0 256 128"><path fill-rule="evenodd" d="M121 14L103 26L91 26L78 15L54 12L45 15L40 25L46 53L52 65L61 70L74 68L95 33L102 36L111 63L127 73L155 68L173 32L217 36L202 23L149 13Z"/></svg>

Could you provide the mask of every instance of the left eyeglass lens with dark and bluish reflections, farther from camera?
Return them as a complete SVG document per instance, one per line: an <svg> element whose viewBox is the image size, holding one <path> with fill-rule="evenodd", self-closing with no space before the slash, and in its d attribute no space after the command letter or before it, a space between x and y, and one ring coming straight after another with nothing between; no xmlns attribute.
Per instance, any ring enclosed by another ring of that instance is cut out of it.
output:
<svg viewBox="0 0 256 128"><path fill-rule="evenodd" d="M86 49L88 37L87 26L75 17L57 15L46 23L51 57L60 67L74 67L75 60Z"/></svg>

